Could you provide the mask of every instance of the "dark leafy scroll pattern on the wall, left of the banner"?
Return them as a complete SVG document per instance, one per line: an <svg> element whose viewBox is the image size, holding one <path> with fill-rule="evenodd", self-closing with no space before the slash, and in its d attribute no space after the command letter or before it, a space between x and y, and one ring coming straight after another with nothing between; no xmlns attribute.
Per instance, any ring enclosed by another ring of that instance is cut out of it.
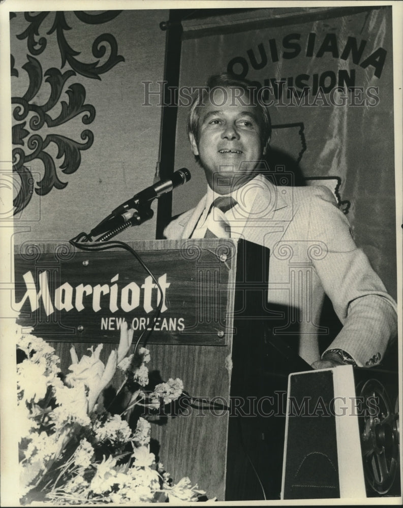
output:
<svg viewBox="0 0 403 508"><path fill-rule="evenodd" d="M107 11L101 14L88 14L84 11L74 11L78 20L91 25L107 23L120 13L121 11ZM16 13L10 13L10 22L16 16ZM42 24L48 17L53 17L53 24L42 35ZM70 175L77 171L81 163L81 151L88 150L94 142L94 133L90 129L77 132L74 139L59 134L57 130L61 124L75 117L80 117L84 125L90 125L96 115L96 106L85 103L85 85L72 82L74 77L79 74L88 79L101 80L102 74L110 71L119 62L125 61L125 58L118 54L116 38L110 33L103 33L92 42L94 61L89 63L82 61L79 51L81 48L73 48L66 38L66 31L72 27L67 23L64 12L38 14L25 12L24 19L26 28L16 37L19 40L26 40L27 50L30 53L26 55L27 61L22 65L22 69L28 75L28 86L22 96L11 99L13 171L20 179L20 188L13 201L15 214L29 204L34 191L39 196L46 196L53 188L64 189L68 184L67 178L62 179L59 172ZM44 69L36 58L49 48L47 37L52 34L56 35L60 69L55 67ZM87 42L83 40L83 44ZM100 63L107 47L109 56L106 61ZM19 79L20 73L15 68L15 56L11 54L10 59L12 79ZM50 86L50 92L46 102L39 103L38 96L41 91L44 93L45 83ZM55 112L57 110L58 113ZM57 147L55 157L47 150L51 143ZM40 160L43 165L44 174L39 181L35 181L27 165L33 160Z"/></svg>

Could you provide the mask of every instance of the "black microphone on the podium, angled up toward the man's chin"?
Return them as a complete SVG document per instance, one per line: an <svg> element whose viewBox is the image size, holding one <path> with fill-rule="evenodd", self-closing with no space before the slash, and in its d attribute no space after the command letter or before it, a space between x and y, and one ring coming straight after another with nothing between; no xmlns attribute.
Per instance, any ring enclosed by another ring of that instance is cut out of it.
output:
<svg viewBox="0 0 403 508"><path fill-rule="evenodd" d="M112 210L98 226L91 230L90 235L98 236L127 223L139 211L139 208L141 208L143 204L171 192L174 188L183 185L183 183L188 182L190 179L191 173L189 169L178 169L173 173L170 179L161 180L150 185L146 189L141 190L138 194L135 194L133 198L125 201L125 203L122 203Z"/></svg>

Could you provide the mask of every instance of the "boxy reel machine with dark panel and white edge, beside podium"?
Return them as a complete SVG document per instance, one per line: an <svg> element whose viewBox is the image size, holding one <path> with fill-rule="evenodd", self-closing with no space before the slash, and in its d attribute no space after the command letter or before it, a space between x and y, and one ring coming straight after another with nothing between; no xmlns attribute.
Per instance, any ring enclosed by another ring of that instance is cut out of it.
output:
<svg viewBox="0 0 403 508"><path fill-rule="evenodd" d="M290 374L282 499L400 495L397 373Z"/></svg>

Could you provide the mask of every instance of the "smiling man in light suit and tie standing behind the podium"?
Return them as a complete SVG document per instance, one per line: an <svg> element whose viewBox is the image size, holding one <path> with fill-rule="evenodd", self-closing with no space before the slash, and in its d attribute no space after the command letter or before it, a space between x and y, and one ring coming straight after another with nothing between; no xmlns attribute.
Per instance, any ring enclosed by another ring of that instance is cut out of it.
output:
<svg viewBox="0 0 403 508"><path fill-rule="evenodd" d="M298 354L314 368L378 365L397 334L396 304L328 188L271 181L263 159L270 116L255 92L250 82L223 74L212 76L194 98L188 133L207 192L164 234L244 238L269 248L268 301L288 307L290 325L298 322ZM296 274L291 289L290 273ZM320 355L325 294L343 327Z"/></svg>

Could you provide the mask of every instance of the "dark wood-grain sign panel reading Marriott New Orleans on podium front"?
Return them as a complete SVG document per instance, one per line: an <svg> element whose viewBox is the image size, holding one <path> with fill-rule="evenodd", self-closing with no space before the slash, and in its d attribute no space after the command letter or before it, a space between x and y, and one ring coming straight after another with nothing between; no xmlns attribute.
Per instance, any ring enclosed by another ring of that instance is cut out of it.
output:
<svg viewBox="0 0 403 508"><path fill-rule="evenodd" d="M122 250L77 251L60 242L25 243L15 252L19 323L52 341L118 342L126 320L149 343L227 344L232 333L230 289L235 280L231 240L132 243Z"/></svg>

